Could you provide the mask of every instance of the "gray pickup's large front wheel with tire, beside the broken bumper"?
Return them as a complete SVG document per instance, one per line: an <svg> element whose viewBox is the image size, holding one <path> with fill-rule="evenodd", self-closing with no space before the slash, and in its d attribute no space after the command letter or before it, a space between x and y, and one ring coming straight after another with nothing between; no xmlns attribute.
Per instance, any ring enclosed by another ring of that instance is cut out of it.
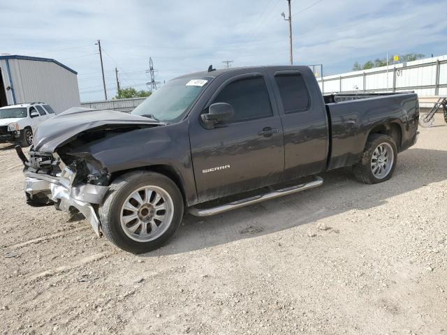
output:
<svg viewBox="0 0 447 335"><path fill-rule="evenodd" d="M166 244L179 228L183 198L163 174L129 172L112 181L98 214L103 234L112 244L131 253L145 253Z"/></svg>

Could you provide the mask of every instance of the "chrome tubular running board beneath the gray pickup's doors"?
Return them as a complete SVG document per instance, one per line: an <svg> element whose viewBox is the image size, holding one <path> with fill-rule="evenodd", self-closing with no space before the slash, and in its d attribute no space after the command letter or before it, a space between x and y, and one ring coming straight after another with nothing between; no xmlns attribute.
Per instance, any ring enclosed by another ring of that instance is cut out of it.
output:
<svg viewBox="0 0 447 335"><path fill-rule="evenodd" d="M251 198L229 202L228 204L221 204L216 207L210 207L210 208L190 207L188 211L189 214L192 214L194 216L211 216L221 214L224 211L231 211L233 209L248 206L249 204L256 204L256 202L279 198L282 197L283 195L305 191L308 190L309 188L321 186L321 184L323 184L323 178L314 176L313 181L309 181L305 184L299 184L291 187L281 188L280 190L272 191L270 193L255 195L254 197Z"/></svg>

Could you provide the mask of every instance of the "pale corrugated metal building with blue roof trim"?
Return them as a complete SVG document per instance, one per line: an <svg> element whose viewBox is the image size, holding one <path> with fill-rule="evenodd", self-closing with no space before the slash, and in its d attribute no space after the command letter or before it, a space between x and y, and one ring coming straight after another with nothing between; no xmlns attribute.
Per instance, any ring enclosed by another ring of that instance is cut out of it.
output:
<svg viewBox="0 0 447 335"><path fill-rule="evenodd" d="M56 114L80 106L78 73L54 59L0 54L0 107L33 102Z"/></svg>

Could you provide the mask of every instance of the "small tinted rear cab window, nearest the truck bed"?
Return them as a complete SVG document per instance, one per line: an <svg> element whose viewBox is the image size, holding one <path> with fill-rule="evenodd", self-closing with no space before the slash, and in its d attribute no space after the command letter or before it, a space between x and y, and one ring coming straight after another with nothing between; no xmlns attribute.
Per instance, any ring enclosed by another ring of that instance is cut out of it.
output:
<svg viewBox="0 0 447 335"><path fill-rule="evenodd" d="M309 91L305 80L300 74L276 75L279 94L281 95L284 112L300 112L309 107Z"/></svg>

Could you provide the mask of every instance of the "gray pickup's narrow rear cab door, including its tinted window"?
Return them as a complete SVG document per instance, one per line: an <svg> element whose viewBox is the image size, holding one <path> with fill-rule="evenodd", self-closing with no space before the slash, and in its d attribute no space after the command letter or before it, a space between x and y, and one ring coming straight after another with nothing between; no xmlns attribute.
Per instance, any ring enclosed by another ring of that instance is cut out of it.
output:
<svg viewBox="0 0 447 335"><path fill-rule="evenodd" d="M309 69L270 70L284 131L284 180L325 170L328 120L323 96Z"/></svg>

